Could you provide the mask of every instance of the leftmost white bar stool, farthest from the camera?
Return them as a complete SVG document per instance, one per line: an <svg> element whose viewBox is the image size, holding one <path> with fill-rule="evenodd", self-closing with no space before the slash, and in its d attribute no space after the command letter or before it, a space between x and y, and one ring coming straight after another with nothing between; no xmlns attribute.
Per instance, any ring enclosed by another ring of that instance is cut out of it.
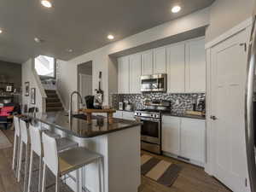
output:
<svg viewBox="0 0 256 192"><path fill-rule="evenodd" d="M15 142L14 142L14 154L13 154L13 165L12 168L15 170L19 163L19 151L20 151L20 119L14 116L15 124ZM17 174L17 172L16 172Z"/></svg>

